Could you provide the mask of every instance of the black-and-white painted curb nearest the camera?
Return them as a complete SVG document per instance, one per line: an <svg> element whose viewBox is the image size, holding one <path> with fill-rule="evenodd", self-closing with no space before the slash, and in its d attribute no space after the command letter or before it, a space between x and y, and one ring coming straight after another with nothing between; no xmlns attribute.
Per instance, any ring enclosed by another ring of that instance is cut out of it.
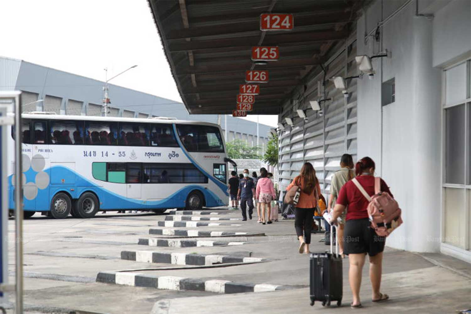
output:
<svg viewBox="0 0 471 314"><path fill-rule="evenodd" d="M287 287L268 283L240 283L227 280L184 278L177 276L152 276L141 273L100 272L97 282L125 286L147 287L166 290L194 290L215 293L265 292L283 290Z"/></svg>

